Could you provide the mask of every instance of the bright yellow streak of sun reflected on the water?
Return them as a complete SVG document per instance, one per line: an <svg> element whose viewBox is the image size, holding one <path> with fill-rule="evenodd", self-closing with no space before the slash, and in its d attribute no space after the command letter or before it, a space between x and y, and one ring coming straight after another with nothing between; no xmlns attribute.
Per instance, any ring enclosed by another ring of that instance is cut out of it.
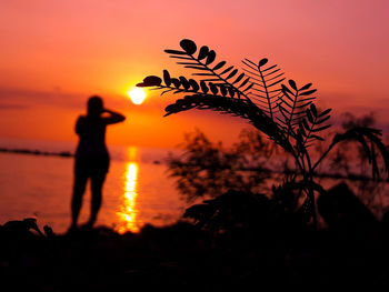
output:
<svg viewBox="0 0 389 292"><path fill-rule="evenodd" d="M118 226L119 233L127 231L138 232L137 224L137 182L138 182L138 163L129 162L126 165L127 172L124 174L124 193L122 199L122 205L117 213L120 218L120 225Z"/></svg>

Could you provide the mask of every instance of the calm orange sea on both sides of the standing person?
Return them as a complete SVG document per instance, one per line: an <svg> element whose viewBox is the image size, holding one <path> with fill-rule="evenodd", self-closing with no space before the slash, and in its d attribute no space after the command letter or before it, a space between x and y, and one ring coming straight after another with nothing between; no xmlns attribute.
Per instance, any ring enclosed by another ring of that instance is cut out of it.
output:
<svg viewBox="0 0 389 292"><path fill-rule="evenodd" d="M0 139L0 147L71 151L72 143ZM97 224L119 232L138 231L143 224L166 225L179 219L186 208L157 164L166 149L109 147L110 171L103 187L103 203ZM70 225L73 159L0 152L0 224L34 217L58 233ZM88 185L89 187L89 185ZM80 222L88 220L90 191L84 195Z"/></svg>

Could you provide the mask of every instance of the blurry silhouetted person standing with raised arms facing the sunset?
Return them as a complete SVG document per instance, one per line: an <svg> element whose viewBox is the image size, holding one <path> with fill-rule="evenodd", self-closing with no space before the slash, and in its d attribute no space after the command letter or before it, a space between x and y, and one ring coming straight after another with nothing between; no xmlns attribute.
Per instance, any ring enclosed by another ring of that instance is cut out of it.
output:
<svg viewBox="0 0 389 292"><path fill-rule="evenodd" d="M106 127L124 121L124 115L107 110L100 97L88 100L87 115L80 115L76 123L79 144L76 151L74 185L71 201L71 230L77 229L82 197L87 181L91 181L91 213L86 226L91 228L101 207L102 184L109 169L109 154L106 145Z"/></svg>

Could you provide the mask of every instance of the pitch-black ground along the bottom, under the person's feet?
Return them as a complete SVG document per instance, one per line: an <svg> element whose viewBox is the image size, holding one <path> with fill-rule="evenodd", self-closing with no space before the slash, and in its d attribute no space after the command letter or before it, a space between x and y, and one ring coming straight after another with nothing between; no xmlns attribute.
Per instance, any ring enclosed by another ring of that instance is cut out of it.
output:
<svg viewBox="0 0 389 292"><path fill-rule="evenodd" d="M107 228L56 235L33 220L0 228L0 291L269 291L389 286L388 220L347 229L236 228L178 222L120 235Z"/></svg>

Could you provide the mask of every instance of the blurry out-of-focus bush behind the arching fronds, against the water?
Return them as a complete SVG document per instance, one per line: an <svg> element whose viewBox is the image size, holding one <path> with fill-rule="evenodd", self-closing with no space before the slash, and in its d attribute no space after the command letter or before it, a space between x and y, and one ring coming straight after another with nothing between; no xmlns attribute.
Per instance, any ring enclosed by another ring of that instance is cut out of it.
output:
<svg viewBox="0 0 389 292"><path fill-rule="evenodd" d="M168 157L170 175L189 202L197 198L213 198L230 189L258 193L267 190L272 175L268 160L277 152L258 131L243 130L240 142L226 148L211 142L201 131L186 134L181 145L186 151Z"/></svg>

